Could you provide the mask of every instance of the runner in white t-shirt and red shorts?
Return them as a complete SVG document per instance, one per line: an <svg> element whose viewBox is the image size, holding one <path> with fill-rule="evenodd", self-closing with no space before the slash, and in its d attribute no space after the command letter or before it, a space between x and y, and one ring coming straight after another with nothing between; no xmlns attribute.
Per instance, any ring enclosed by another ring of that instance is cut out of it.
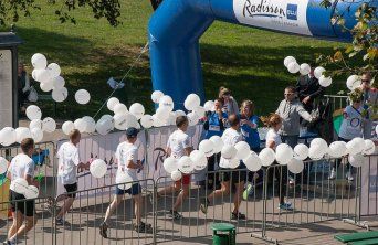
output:
<svg viewBox="0 0 378 245"><path fill-rule="evenodd" d="M182 156L189 156L193 148L191 146L189 136L186 134L189 127L188 118L186 116L177 117L176 126L177 130L174 131L168 138L166 152L168 156L180 159ZM172 209L169 210L170 216L175 220L182 217L177 210L181 206L182 201L189 196L190 178L190 174L182 174L181 180L176 181L174 185L167 187L157 193L158 196L161 196L164 194L174 193L181 190Z"/></svg>

